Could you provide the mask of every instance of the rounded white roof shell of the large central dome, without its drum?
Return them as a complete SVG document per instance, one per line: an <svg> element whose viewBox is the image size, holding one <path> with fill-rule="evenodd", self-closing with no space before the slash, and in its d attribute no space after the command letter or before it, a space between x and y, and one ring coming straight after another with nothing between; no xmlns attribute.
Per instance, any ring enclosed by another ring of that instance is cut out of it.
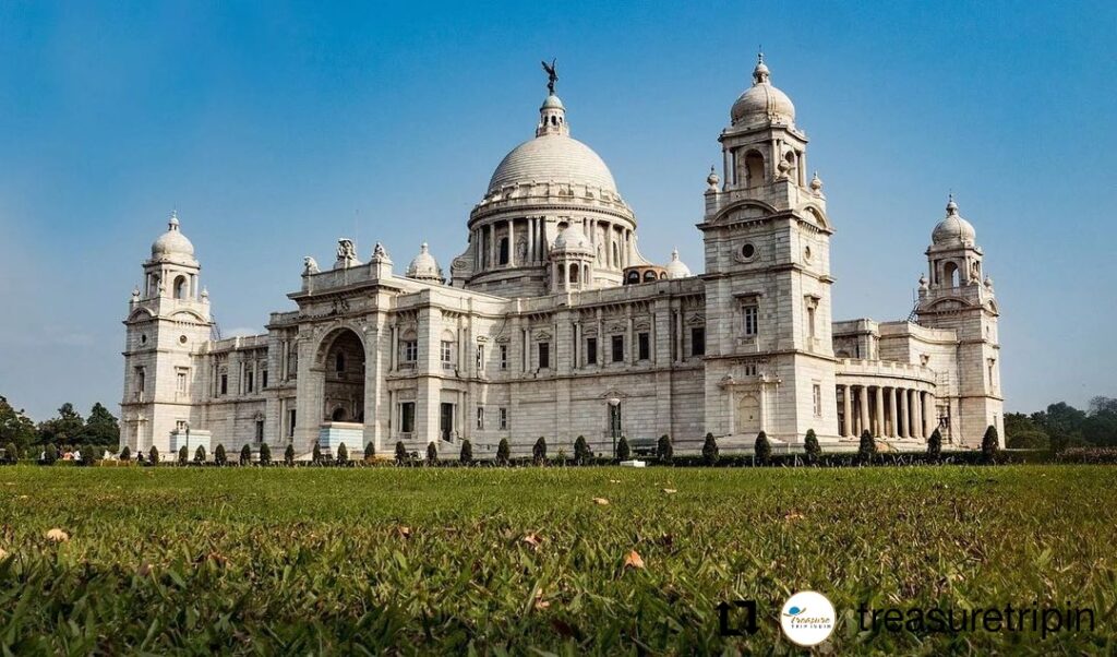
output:
<svg viewBox="0 0 1117 657"><path fill-rule="evenodd" d="M545 134L505 155L489 180L487 193L531 182L585 184L617 193L617 182L590 146L564 134Z"/></svg>

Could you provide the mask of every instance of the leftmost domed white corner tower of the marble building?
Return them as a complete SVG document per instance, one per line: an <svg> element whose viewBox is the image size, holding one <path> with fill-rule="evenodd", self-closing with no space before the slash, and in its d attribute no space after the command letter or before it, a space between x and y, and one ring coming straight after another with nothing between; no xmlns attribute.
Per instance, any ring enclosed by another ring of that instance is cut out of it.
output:
<svg viewBox="0 0 1117 657"><path fill-rule="evenodd" d="M124 321L124 399L121 444L169 454L171 434L191 421L191 404L204 388L194 354L210 340L209 293L199 291L194 247L171 215L151 246L142 287L132 292ZM201 438L200 427L194 427Z"/></svg>

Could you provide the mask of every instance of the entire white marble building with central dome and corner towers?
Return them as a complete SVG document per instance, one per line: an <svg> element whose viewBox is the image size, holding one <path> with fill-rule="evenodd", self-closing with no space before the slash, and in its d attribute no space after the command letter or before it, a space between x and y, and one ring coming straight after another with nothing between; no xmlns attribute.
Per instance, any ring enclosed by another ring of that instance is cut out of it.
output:
<svg viewBox="0 0 1117 657"><path fill-rule="evenodd" d="M581 435L608 454L620 435L697 450L708 431L732 451L764 430L798 450L809 429L829 449L869 429L923 449L936 426L955 446L1002 428L999 308L973 226L952 199L906 318L832 321L836 227L763 59L718 135L698 275L677 254L662 266L640 254L636 213L566 120L548 94L448 273L427 245L398 273L379 244L362 261L342 239L330 268L306 259L287 295L298 310L260 335L214 339L172 216L124 322L124 442L390 455L435 441L456 456L469 439L484 458L540 436L552 453Z"/></svg>

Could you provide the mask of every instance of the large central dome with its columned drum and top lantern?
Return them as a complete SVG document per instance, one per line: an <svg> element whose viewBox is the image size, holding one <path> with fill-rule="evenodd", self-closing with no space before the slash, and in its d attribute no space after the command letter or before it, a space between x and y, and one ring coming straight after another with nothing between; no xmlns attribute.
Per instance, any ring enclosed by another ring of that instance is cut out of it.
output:
<svg viewBox="0 0 1117 657"><path fill-rule="evenodd" d="M561 288L550 251L565 227L580 228L589 240L590 278L579 283L584 289L620 285L626 267L647 264L632 209L601 158L570 136L566 107L552 88L535 137L500 161L470 212L469 248L450 267L454 285L508 297Z"/></svg>

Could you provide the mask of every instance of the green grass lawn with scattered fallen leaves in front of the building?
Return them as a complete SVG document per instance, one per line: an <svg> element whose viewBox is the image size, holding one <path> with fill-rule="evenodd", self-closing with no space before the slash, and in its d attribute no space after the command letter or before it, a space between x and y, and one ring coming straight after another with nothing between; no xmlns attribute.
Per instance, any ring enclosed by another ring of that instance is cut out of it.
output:
<svg viewBox="0 0 1117 657"><path fill-rule="evenodd" d="M1117 646L1111 467L18 466L0 550L4 654L791 653L801 589L834 603L840 653ZM756 635L719 636L734 599ZM853 611L1037 601L1096 630L859 632Z"/></svg>

